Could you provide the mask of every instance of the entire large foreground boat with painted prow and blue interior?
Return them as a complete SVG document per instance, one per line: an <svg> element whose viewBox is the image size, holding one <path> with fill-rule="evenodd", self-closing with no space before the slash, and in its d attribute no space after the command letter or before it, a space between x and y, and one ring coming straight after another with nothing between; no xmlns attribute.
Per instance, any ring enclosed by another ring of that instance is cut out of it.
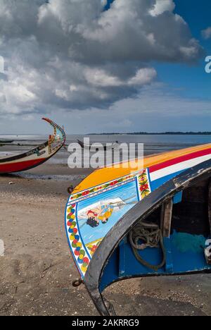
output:
<svg viewBox="0 0 211 330"><path fill-rule="evenodd" d="M211 272L211 145L146 157L138 171L98 169L65 212L68 243L103 316L103 291L141 276Z"/></svg>

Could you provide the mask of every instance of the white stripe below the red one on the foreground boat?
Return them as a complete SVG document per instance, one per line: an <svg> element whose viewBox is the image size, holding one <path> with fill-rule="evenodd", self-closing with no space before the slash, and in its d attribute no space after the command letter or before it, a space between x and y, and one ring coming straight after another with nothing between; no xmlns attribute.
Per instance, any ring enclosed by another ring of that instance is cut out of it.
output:
<svg viewBox="0 0 211 330"><path fill-rule="evenodd" d="M182 161L181 163L165 167L165 169L160 169L150 174L151 181L158 180L159 178L163 178L164 176L169 176L170 174L177 173L179 171L184 171L186 169L190 169L192 166L196 166L203 161L211 159L211 154L207 154L206 156L189 159L188 161Z"/></svg>

